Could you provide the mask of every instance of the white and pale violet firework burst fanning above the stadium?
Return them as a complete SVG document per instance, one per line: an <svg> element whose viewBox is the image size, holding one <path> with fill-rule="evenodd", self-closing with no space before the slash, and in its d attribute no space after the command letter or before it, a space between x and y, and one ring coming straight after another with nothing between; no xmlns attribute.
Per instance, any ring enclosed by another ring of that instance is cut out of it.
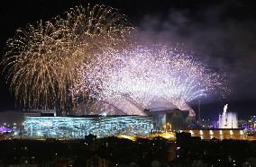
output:
<svg viewBox="0 0 256 167"><path fill-rule="evenodd" d="M109 55L111 59L102 61ZM209 71L192 54L163 45L108 50L98 56L95 65L76 92L90 87L90 96L126 114L143 115L152 102L165 100L195 116L187 102L228 91L222 75ZM109 112L114 114L114 110Z"/></svg>

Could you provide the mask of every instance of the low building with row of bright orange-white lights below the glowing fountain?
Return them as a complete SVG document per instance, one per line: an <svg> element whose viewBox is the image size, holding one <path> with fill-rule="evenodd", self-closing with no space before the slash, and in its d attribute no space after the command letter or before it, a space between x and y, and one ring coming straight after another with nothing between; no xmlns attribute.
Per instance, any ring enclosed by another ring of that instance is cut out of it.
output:
<svg viewBox="0 0 256 167"><path fill-rule="evenodd" d="M242 128L197 128L197 129L183 129L180 132L190 133L191 136L199 136L203 140L210 140L213 138L223 139L246 139Z"/></svg>

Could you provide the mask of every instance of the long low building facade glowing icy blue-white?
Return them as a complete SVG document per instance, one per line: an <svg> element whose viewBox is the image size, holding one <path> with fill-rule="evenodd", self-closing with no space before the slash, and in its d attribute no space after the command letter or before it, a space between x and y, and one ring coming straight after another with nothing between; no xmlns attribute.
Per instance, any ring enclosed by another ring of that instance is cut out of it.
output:
<svg viewBox="0 0 256 167"><path fill-rule="evenodd" d="M148 136L153 120L147 116L25 117L24 136L84 138L104 136Z"/></svg>

